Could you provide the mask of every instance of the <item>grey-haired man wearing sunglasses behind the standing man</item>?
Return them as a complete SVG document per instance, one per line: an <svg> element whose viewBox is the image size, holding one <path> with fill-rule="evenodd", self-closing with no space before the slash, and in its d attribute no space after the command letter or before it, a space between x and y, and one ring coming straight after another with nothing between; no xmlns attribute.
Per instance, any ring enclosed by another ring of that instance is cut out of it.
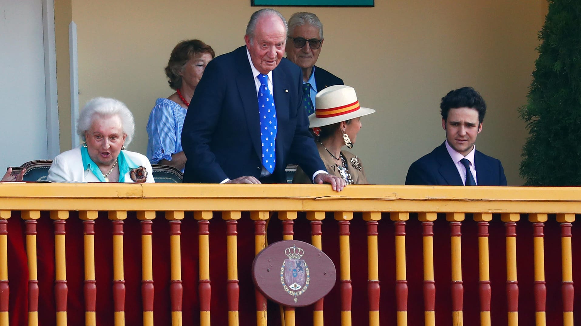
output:
<svg viewBox="0 0 581 326"><path fill-rule="evenodd" d="M286 58L303 71L303 105L307 114L314 113L315 95L332 85L343 85L343 80L329 71L316 67L323 45L323 25L310 12L297 12L288 21Z"/></svg>

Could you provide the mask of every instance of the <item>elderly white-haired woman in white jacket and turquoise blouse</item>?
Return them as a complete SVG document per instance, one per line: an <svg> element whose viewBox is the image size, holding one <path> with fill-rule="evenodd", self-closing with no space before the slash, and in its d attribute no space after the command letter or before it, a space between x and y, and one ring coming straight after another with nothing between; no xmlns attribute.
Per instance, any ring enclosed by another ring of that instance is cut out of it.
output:
<svg viewBox="0 0 581 326"><path fill-rule="evenodd" d="M52 161L48 181L154 182L145 155L125 151L135 122L130 110L112 98L94 98L80 113L77 134L83 145Z"/></svg>

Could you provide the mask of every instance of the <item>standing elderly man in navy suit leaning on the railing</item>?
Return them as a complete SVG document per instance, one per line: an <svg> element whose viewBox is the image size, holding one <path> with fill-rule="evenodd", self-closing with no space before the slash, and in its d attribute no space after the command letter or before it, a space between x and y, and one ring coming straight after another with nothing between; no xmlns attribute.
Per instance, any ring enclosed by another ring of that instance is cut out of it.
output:
<svg viewBox="0 0 581 326"><path fill-rule="evenodd" d="M254 12L245 46L206 67L182 130L188 157L184 182L286 182L289 156L315 184L345 187L329 175L302 109L299 67L282 58L286 20L277 10Z"/></svg>

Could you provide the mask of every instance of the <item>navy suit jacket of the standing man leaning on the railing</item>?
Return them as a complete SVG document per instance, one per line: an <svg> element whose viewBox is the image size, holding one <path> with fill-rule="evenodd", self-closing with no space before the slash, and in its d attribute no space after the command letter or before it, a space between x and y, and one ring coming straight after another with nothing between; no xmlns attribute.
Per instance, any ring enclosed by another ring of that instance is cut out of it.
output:
<svg viewBox="0 0 581 326"><path fill-rule="evenodd" d="M286 182L289 155L311 175L325 170L308 130L300 68L282 59L272 70L277 110L274 181ZM181 142L188 158L184 182L217 183L244 175L260 177L262 148L256 86L246 46L211 60L185 116Z"/></svg>

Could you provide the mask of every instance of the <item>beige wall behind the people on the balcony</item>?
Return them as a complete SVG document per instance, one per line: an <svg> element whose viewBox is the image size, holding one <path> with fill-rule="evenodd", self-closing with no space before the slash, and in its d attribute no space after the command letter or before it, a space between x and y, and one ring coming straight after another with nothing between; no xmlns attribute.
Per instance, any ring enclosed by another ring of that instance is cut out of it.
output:
<svg viewBox="0 0 581 326"><path fill-rule="evenodd" d="M229 52L243 44L249 16L259 9L250 0L70 2L78 28L80 106L95 96L125 102L137 124L130 149L142 153L155 99L173 92L163 73L173 46L200 38L218 55ZM526 102L545 7L543 0L377 0L374 8L279 10L285 17L317 13L326 40L318 65L377 110L362 120L353 149L370 181L403 184L408 166L444 139L440 98L471 85L489 108L476 146L500 159L508 183L517 185L526 137L517 108ZM59 103L62 94L59 88ZM60 106L70 116L67 110ZM64 137L69 128L63 120Z"/></svg>

